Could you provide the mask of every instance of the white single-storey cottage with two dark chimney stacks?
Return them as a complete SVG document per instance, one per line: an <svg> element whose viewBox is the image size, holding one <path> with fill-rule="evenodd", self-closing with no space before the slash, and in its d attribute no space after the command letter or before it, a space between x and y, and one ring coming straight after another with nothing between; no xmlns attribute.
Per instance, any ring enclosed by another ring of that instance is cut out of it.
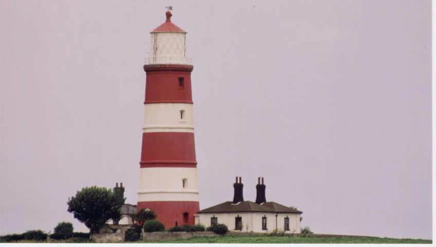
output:
<svg viewBox="0 0 436 247"><path fill-rule="evenodd" d="M281 230L300 233L300 216L303 212L274 201L267 202L263 178L258 178L256 202L244 201L241 177L233 184L233 201L208 207L195 215L195 223L205 226L225 224L229 231L267 233Z"/></svg>

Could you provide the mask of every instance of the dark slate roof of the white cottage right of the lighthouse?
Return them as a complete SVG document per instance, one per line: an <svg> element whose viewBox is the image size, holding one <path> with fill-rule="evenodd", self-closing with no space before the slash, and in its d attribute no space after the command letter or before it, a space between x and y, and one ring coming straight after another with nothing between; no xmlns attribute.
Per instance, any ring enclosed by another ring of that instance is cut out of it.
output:
<svg viewBox="0 0 436 247"><path fill-rule="evenodd" d="M256 202L243 201L237 204L233 204L232 201L226 201L215 206L205 208L198 211L201 213L290 213L290 214L302 214L303 212L293 210L290 207L284 206L277 202L265 202L257 204Z"/></svg>

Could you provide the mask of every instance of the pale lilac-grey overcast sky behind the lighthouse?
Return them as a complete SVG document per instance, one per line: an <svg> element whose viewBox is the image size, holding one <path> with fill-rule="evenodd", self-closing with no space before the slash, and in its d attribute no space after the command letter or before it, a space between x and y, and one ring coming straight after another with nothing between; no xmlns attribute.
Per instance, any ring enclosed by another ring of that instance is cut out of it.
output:
<svg viewBox="0 0 436 247"><path fill-rule="evenodd" d="M0 234L136 204L150 31L186 30L200 208L303 211L315 233L432 237L431 2L0 1Z"/></svg>

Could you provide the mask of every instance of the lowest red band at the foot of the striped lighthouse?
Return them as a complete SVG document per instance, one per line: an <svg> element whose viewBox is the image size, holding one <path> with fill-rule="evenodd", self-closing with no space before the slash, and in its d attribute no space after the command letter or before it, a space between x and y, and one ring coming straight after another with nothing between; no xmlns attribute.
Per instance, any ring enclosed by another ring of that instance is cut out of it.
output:
<svg viewBox="0 0 436 247"><path fill-rule="evenodd" d="M138 202L138 211L142 208L154 210L156 220L165 225L165 229L176 225L193 225L194 215L200 210L197 201L142 201Z"/></svg>

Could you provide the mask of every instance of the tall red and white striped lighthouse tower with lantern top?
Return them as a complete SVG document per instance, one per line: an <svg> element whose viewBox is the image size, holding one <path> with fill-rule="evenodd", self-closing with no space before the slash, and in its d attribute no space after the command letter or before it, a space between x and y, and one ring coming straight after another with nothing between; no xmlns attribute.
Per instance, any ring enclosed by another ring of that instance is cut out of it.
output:
<svg viewBox="0 0 436 247"><path fill-rule="evenodd" d="M146 59L146 100L138 211L150 208L168 229L194 224L199 211L191 93L193 66L186 32L167 20L151 32Z"/></svg>

